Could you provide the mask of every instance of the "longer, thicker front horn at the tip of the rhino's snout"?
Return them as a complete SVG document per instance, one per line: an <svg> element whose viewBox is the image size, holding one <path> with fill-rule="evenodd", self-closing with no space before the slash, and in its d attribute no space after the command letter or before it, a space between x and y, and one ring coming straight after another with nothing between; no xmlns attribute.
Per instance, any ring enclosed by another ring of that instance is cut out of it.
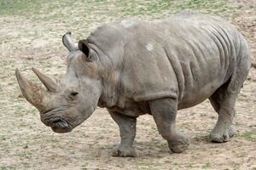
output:
<svg viewBox="0 0 256 170"><path fill-rule="evenodd" d="M20 86L21 93L24 95L25 99L34 105L38 111L46 111L46 105L48 102L49 94L44 88L28 81L26 77L20 74L20 71L16 69L15 75Z"/></svg>

